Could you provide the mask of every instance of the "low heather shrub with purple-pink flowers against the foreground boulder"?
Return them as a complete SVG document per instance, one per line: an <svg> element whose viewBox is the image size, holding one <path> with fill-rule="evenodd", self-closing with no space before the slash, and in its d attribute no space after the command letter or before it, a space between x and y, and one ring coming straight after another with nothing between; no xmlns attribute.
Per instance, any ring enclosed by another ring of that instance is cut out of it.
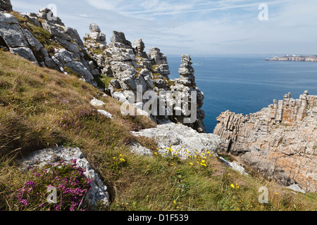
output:
<svg viewBox="0 0 317 225"><path fill-rule="evenodd" d="M88 210L84 198L92 180L87 179L84 172L77 167L76 160L71 163L61 161L58 165L45 165L40 169L29 168L24 174L27 181L23 186L7 195L11 210ZM56 188L56 203L48 202L49 187Z"/></svg>

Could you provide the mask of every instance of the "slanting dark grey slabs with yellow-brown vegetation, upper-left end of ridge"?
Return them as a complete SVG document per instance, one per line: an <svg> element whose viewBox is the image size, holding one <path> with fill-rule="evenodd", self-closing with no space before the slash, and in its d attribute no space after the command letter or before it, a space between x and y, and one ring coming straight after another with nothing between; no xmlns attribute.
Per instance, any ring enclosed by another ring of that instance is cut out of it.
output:
<svg viewBox="0 0 317 225"><path fill-rule="evenodd" d="M75 72L97 86L79 34L54 17L49 8L38 14L0 13L0 45L39 66Z"/></svg>

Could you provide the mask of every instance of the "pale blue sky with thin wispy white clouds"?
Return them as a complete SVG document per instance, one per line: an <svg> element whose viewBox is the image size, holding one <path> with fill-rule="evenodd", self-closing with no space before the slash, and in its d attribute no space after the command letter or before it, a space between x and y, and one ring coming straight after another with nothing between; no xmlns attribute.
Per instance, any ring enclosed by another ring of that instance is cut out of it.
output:
<svg viewBox="0 0 317 225"><path fill-rule="evenodd" d="M165 54L317 54L316 0L11 0L19 12L49 4L81 37L97 23ZM259 8L266 4L266 8ZM263 14L264 13L264 14ZM268 20L260 20L267 16Z"/></svg>

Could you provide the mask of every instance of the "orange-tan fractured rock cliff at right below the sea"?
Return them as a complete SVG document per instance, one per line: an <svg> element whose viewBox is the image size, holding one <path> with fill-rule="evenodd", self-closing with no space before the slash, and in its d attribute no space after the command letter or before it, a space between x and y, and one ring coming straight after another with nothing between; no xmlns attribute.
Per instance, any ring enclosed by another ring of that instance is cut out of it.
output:
<svg viewBox="0 0 317 225"><path fill-rule="evenodd" d="M250 115L226 111L213 134L221 138L220 153L236 155L254 172L280 184L298 184L317 191L317 96L290 93Z"/></svg>

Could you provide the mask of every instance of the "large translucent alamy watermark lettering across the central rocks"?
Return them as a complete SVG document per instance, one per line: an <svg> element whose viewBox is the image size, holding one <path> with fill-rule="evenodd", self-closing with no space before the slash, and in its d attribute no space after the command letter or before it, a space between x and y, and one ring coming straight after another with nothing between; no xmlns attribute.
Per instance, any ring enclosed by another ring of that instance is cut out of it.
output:
<svg viewBox="0 0 317 225"><path fill-rule="evenodd" d="M142 91L142 85L137 85L137 94L130 92L121 105L123 115L152 116L184 116L184 123L194 123L197 120L197 91ZM135 103L139 104L135 111Z"/></svg>

